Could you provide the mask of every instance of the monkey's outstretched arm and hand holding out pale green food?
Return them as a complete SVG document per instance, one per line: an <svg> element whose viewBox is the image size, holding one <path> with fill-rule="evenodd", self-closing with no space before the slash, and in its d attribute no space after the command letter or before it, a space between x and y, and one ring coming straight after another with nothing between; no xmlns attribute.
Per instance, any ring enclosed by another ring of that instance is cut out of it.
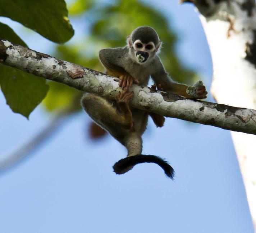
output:
<svg viewBox="0 0 256 233"><path fill-rule="evenodd" d="M152 71L151 77L155 81L156 85L161 85L161 88L172 94L182 95L184 97L193 98L191 95L187 94L186 90L188 88L185 84L179 84L178 82L174 82L168 73L165 71L160 58L157 57L155 60L155 64L152 67L154 70ZM205 90L205 86L197 87L197 98L196 99L204 99L206 98L207 91Z"/></svg>

